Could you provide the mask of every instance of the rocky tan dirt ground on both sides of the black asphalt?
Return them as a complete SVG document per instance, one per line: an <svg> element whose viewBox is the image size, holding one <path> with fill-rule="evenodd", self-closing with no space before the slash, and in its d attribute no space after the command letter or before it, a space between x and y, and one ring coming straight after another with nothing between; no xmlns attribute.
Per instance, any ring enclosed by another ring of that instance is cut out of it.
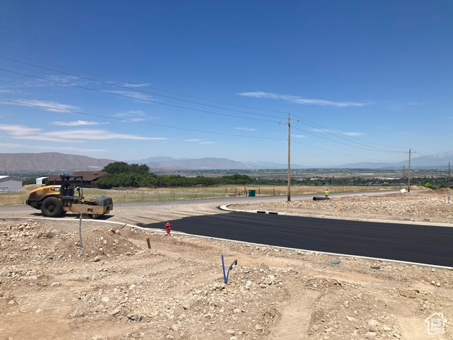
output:
<svg viewBox="0 0 453 340"><path fill-rule="evenodd" d="M451 193L230 208L453 226ZM449 268L83 225L0 218L1 340L453 339Z"/></svg>

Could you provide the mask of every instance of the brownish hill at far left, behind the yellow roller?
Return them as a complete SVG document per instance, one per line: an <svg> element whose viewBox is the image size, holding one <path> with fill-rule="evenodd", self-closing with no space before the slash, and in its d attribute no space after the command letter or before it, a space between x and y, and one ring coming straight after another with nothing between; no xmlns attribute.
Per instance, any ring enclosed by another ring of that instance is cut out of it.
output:
<svg viewBox="0 0 453 340"><path fill-rule="evenodd" d="M17 171L65 173L72 171L100 171L115 162L74 154L42 152L38 154L0 154L0 174Z"/></svg>

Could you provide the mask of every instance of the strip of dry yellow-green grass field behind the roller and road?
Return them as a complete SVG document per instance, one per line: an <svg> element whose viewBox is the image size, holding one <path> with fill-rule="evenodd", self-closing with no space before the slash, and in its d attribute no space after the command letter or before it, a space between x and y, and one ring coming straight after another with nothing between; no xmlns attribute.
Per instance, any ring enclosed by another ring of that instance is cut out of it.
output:
<svg viewBox="0 0 453 340"><path fill-rule="evenodd" d="M27 186L19 193L1 193L0 205L22 205L28 198L28 193L37 188ZM332 186L331 193L346 193L355 191L399 190L396 187L375 186ZM248 196L250 191L255 191L256 196L287 196L287 186L260 186L260 187L233 187L217 186L207 188L130 188L124 190L101 190L84 188L87 200L98 196L109 196L113 202L156 202L172 200L202 200L207 198L224 198L233 196ZM292 186L291 196L317 195L323 196L326 187Z"/></svg>

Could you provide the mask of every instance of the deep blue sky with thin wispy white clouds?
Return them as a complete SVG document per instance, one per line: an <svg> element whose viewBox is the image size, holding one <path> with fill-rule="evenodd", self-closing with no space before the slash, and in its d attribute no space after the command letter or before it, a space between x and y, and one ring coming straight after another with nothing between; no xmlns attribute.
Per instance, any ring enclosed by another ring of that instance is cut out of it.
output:
<svg viewBox="0 0 453 340"><path fill-rule="evenodd" d="M1 1L0 153L330 166L453 149L453 2Z"/></svg>

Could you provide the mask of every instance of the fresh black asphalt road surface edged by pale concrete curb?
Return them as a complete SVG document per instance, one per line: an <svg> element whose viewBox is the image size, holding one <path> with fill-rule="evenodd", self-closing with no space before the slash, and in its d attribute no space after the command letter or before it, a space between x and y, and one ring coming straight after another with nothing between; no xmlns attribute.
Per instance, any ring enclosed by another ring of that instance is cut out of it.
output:
<svg viewBox="0 0 453 340"><path fill-rule="evenodd" d="M173 231L336 254L453 266L453 228L230 212L171 221ZM162 228L162 223L143 227Z"/></svg>

